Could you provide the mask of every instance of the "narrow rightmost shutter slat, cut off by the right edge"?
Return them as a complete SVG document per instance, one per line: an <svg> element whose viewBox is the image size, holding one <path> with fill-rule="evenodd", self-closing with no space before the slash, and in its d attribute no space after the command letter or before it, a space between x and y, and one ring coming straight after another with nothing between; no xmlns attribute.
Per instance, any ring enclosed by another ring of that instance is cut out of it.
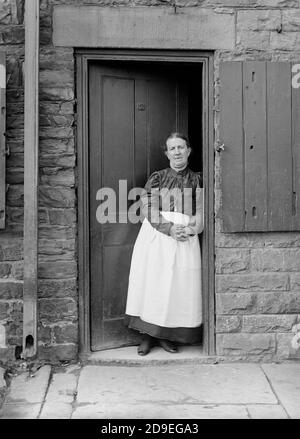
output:
<svg viewBox="0 0 300 439"><path fill-rule="evenodd" d="M292 88L293 230L300 230L300 88Z"/></svg>

